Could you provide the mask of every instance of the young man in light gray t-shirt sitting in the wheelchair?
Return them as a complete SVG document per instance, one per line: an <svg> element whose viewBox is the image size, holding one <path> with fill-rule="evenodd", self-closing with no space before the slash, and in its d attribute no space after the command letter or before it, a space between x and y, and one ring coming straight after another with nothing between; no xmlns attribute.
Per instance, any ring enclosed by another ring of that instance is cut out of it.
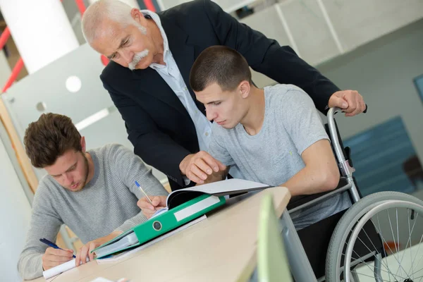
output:
<svg viewBox="0 0 423 282"><path fill-rule="evenodd" d="M329 137L312 99L299 87L255 87L247 61L223 46L202 51L190 85L214 121L209 154L216 161L192 168L197 175L210 174L220 161L236 164L246 180L284 186L293 196L336 188L340 176ZM293 222L305 228L349 205L348 194L336 195L293 215Z"/></svg>

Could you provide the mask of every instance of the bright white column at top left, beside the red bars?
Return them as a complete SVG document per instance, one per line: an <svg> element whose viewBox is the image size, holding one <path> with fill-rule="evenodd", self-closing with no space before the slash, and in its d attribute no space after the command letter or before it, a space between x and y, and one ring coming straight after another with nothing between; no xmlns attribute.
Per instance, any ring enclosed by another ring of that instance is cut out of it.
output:
<svg viewBox="0 0 423 282"><path fill-rule="evenodd" d="M0 0L0 9L28 73L79 47L59 0Z"/></svg>

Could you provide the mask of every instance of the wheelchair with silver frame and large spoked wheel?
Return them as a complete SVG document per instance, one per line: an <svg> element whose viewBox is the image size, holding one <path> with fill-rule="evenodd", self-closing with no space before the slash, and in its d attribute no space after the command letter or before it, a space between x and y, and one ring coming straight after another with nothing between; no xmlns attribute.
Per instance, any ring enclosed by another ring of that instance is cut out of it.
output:
<svg viewBox="0 0 423 282"><path fill-rule="evenodd" d="M325 125L341 172L338 187L293 197L287 211L295 214L342 192L352 206L297 231L300 245L292 221L285 219L281 233L292 276L297 282L423 281L423 202L401 192L361 196L350 149L338 133L338 111L329 109Z"/></svg>

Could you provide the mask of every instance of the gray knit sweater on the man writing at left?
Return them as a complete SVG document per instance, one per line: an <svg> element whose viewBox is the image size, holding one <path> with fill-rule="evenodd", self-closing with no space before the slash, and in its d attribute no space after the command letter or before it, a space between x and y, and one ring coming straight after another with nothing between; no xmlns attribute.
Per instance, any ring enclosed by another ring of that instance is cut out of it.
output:
<svg viewBox="0 0 423 282"><path fill-rule="evenodd" d="M42 255L47 245L39 239L55 242L62 224L85 244L145 221L137 207L137 200L143 195L135 180L148 195L168 194L140 157L122 145L106 145L88 152L94 161L94 177L82 190L66 190L48 175L39 181L30 228L18 261L18 271L24 279L42 276Z"/></svg>

